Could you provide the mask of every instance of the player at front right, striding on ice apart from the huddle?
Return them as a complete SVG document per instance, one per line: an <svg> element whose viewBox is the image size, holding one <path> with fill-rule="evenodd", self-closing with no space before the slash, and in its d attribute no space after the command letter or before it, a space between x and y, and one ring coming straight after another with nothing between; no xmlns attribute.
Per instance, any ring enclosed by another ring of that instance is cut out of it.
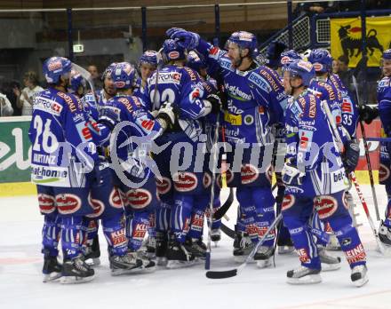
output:
<svg viewBox="0 0 391 309"><path fill-rule="evenodd" d="M315 209L319 218L329 222L337 234L352 270L351 280L356 286L362 286L368 281L366 255L347 211L346 172L321 100L308 91L315 69L311 63L298 60L291 63L289 73L284 88L293 100L285 115L287 155L283 182L286 189L282 210L301 266L287 273L287 281L292 284L322 281L321 258L314 234L307 226ZM345 152L347 157L350 149L346 148Z"/></svg>

